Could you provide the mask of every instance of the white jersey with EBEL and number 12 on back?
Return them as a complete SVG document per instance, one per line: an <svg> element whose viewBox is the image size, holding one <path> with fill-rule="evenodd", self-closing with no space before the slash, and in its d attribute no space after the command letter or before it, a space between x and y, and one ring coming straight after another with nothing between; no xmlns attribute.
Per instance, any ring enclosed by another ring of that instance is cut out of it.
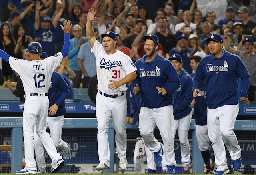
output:
<svg viewBox="0 0 256 175"><path fill-rule="evenodd" d="M52 73L60 65L62 57L61 52L44 60L35 61L10 57L9 63L12 70L20 75L25 93L47 93Z"/></svg>

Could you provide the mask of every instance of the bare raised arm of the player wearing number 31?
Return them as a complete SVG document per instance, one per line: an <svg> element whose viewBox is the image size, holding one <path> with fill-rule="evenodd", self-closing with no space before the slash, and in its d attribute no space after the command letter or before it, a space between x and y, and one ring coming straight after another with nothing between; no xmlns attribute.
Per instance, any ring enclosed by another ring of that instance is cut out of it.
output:
<svg viewBox="0 0 256 175"><path fill-rule="evenodd" d="M92 28L92 21L96 19L96 12L97 10L94 10L94 8L88 10L87 23L85 28L86 38L88 39L91 48L93 48L94 42L96 41L96 38L94 36L94 30Z"/></svg>

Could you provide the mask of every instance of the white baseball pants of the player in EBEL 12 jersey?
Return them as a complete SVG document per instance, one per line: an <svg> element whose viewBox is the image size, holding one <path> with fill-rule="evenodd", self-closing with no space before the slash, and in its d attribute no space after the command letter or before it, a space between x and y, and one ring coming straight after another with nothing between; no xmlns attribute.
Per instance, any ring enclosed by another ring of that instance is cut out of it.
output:
<svg viewBox="0 0 256 175"><path fill-rule="evenodd" d="M36 133L42 140L50 158L54 161L62 159L54 146L52 138L46 132L46 118L49 107L47 96L30 96L26 95L23 111L23 137L25 145L25 163L26 168L36 170L36 160L34 158L34 127Z"/></svg>

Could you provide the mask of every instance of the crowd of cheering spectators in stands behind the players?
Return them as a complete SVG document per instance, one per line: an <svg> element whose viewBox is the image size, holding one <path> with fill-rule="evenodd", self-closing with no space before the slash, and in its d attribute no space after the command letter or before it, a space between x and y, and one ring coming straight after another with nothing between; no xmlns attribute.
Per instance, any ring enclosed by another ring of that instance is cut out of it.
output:
<svg viewBox="0 0 256 175"><path fill-rule="evenodd" d="M144 56L143 36L155 34L160 40L158 54L167 59L179 54L183 68L192 74L190 56L208 55L204 39L216 33L224 37L224 49L248 58L246 66L255 65L255 6L255 0L1 0L0 48L22 59L28 44L38 41L43 51L52 56L60 52L64 42L59 25L70 19L73 28L66 66L76 74L70 78L73 87L88 88L90 78L96 74L96 63L85 26L88 9L94 8L97 18L92 25L96 38L101 41L101 34L115 32L117 49L134 62ZM256 71L251 67L247 68L254 80ZM0 69L4 81L18 81L2 58ZM251 86L255 89L256 80Z"/></svg>

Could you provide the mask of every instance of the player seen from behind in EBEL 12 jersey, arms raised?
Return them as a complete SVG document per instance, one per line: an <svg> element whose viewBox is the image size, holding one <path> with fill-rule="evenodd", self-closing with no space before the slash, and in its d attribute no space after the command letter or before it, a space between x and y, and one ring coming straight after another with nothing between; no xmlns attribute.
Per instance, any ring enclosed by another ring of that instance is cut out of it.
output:
<svg viewBox="0 0 256 175"><path fill-rule="evenodd" d="M36 161L34 159L34 127L43 142L44 148L52 159L50 173L55 173L64 164L64 160L57 152L52 138L46 132L46 118L49 107L48 89L50 78L54 69L60 64L62 58L67 56L69 50L69 33L72 27L70 20L65 21L64 27L60 25L64 34L64 45L61 52L44 60L39 60L42 46L38 42L28 44L29 57L32 61L17 59L9 56L0 49L0 56L9 62L12 70L16 71L23 82L25 104L23 111L23 137L25 145L26 166L17 174L36 174ZM55 111L54 111L55 112Z"/></svg>

